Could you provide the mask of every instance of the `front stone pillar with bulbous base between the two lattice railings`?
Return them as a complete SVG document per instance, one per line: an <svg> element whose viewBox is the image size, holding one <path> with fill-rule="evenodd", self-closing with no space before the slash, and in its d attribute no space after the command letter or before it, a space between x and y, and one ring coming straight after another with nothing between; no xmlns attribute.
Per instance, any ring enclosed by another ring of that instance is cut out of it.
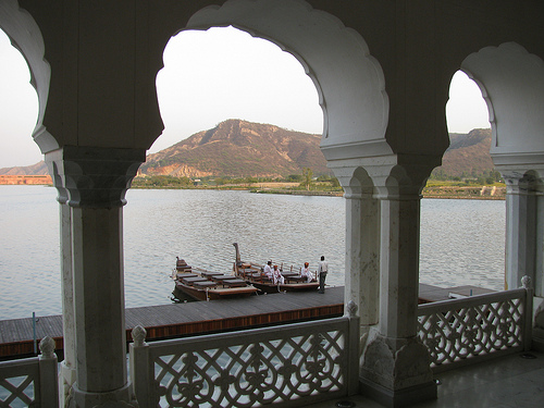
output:
<svg viewBox="0 0 544 408"><path fill-rule="evenodd" d="M380 322L369 333L360 379L386 406L436 398L426 347L417 338L420 191L430 169L368 169L381 212Z"/></svg>

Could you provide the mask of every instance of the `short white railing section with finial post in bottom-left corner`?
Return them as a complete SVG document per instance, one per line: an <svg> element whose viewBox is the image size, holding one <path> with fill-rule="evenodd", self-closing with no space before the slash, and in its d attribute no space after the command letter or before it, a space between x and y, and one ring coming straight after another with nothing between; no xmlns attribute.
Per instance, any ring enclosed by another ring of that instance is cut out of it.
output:
<svg viewBox="0 0 544 408"><path fill-rule="evenodd" d="M59 406L54 341L44 337L39 357L0 362L0 406Z"/></svg>

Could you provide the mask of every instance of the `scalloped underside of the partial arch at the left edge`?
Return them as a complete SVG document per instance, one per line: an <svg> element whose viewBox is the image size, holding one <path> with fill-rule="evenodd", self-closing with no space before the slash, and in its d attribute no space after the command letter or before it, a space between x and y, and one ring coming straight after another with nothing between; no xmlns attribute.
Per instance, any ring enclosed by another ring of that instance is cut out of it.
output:
<svg viewBox="0 0 544 408"><path fill-rule="evenodd" d="M11 44L26 60L30 71L30 83L38 96L38 119L33 138L41 152L58 148L57 140L44 126L51 69L45 60L45 45L41 32L28 12L21 9L16 0L0 2L0 27L10 37Z"/></svg>

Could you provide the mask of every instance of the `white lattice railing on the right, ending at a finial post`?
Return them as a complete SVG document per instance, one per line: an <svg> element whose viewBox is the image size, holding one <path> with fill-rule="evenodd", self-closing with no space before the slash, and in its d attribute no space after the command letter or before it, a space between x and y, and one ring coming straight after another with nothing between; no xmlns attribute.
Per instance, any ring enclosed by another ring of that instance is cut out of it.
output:
<svg viewBox="0 0 544 408"><path fill-rule="evenodd" d="M523 286L420 305L418 332L429 348L433 370L529 350L533 290L529 283Z"/></svg>

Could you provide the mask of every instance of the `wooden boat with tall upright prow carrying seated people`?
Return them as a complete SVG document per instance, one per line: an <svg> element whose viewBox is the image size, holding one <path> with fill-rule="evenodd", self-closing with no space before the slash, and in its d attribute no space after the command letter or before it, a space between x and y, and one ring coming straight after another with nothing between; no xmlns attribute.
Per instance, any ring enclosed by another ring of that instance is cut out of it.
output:
<svg viewBox="0 0 544 408"><path fill-rule="evenodd" d="M259 290L271 294L279 292L316 290L319 288L317 272L312 281L307 282L307 277L300 276L300 273L293 271L293 267L290 267L289 271L284 271L283 264L280 271L285 282L283 284L275 284L264 273L263 265L255 262L243 262L240 260L238 244L234 243L233 245L236 248L236 261L233 267L234 274Z"/></svg>

